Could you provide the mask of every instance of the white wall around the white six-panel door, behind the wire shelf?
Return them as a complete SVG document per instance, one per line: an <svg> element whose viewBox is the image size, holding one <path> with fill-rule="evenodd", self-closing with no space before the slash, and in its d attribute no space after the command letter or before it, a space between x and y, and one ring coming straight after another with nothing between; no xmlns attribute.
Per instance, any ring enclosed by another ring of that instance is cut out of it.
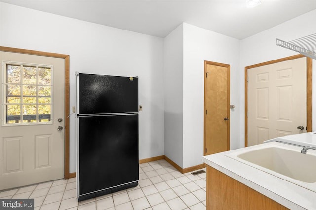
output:
<svg viewBox="0 0 316 210"><path fill-rule="evenodd" d="M308 12L297 18L282 23L269 30L255 34L241 40L240 44L240 141L244 141L244 67L262 63L265 61L276 60L299 53L276 46L276 38L284 41L291 41L307 35L316 33L316 10ZM316 130L316 61L313 59L313 116L312 126ZM244 145L242 145L244 146Z"/></svg>

